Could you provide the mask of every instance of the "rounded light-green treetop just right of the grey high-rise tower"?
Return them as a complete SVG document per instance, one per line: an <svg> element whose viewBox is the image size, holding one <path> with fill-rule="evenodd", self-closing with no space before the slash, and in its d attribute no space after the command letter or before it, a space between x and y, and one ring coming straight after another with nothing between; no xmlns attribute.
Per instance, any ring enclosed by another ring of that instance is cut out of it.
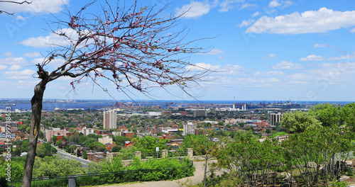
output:
<svg viewBox="0 0 355 187"><path fill-rule="evenodd" d="M287 132L303 132L307 128L319 127L322 123L307 112L294 111L284 113L281 118L281 127Z"/></svg>

